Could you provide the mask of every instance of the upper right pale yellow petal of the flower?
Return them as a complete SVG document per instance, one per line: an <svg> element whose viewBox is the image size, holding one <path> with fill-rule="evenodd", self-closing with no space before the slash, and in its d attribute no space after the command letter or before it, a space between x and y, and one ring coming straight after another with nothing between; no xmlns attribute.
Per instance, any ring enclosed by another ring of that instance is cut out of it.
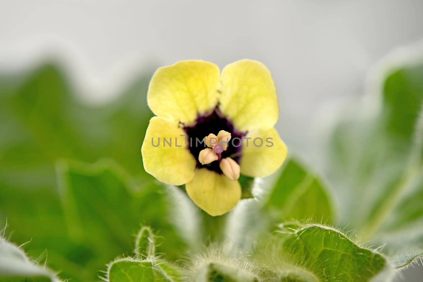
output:
<svg viewBox="0 0 423 282"><path fill-rule="evenodd" d="M220 110L236 129L272 128L279 116L276 88L270 71L255 60L239 60L222 71Z"/></svg>

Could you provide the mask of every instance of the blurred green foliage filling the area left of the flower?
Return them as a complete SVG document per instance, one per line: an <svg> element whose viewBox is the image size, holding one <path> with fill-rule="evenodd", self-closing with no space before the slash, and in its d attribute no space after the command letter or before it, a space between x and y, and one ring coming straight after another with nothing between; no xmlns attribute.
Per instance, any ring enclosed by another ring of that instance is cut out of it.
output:
<svg viewBox="0 0 423 282"><path fill-rule="evenodd" d="M146 105L148 80L140 77L115 101L88 106L77 100L54 64L0 79L0 225L7 218L11 238L19 244L32 239L26 248L30 256L47 249L49 266L62 271L63 278L94 280L107 261L132 251L140 223L166 235L164 188L143 170L140 154L152 116ZM72 164L57 166L62 159L104 157L133 179L123 181L107 167L88 168L83 175ZM126 182L139 191L128 191ZM69 205L63 208L58 186L74 200L75 214L67 220ZM145 195L134 199L130 193ZM183 246L176 235L169 237L165 246Z"/></svg>

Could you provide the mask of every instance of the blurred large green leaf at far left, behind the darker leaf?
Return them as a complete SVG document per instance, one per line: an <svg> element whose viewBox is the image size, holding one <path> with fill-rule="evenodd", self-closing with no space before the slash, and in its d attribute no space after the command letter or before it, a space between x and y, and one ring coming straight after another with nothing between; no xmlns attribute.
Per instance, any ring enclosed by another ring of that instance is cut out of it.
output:
<svg viewBox="0 0 423 282"><path fill-rule="evenodd" d="M140 155L152 116L145 102L150 73L115 101L101 105L81 103L63 71L52 63L24 75L0 77L0 128L7 132L0 138L0 225L7 217L11 228L18 230L14 240L19 244L32 238L27 246L30 256L47 249L49 266L62 270L62 277L90 281L95 274L88 261L105 261L92 253L91 246L69 238L55 162L111 157L137 182L152 181Z"/></svg>

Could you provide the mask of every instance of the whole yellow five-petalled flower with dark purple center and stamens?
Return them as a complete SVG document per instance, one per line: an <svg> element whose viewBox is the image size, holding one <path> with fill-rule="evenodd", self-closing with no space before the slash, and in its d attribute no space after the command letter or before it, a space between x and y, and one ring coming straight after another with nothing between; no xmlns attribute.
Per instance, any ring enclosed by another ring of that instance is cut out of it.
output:
<svg viewBox="0 0 423 282"><path fill-rule="evenodd" d="M147 102L157 116L141 149L145 170L164 183L185 184L192 201L212 216L238 203L239 173L264 177L286 158L273 128L275 84L260 62L239 60L222 74L201 60L159 68Z"/></svg>

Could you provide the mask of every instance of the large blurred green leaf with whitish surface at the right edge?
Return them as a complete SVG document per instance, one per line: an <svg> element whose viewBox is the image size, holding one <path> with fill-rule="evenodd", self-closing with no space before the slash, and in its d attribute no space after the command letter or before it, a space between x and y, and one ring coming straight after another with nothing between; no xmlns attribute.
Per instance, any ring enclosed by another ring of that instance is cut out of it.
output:
<svg viewBox="0 0 423 282"><path fill-rule="evenodd" d="M412 60L389 64L379 76L381 93L374 93L381 107L367 99L353 115L337 118L328 150L321 150L322 159L329 156L325 175L343 207L338 224L384 246L381 252L396 267L412 262L423 247L422 58L420 50Z"/></svg>

